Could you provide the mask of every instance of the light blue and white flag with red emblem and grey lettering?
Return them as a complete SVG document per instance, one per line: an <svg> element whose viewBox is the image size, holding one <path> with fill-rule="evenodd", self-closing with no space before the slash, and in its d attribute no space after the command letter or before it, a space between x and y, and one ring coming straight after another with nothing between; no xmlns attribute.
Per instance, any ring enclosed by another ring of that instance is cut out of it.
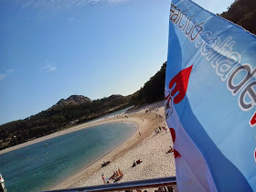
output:
<svg viewBox="0 0 256 192"><path fill-rule="evenodd" d="M180 191L256 191L256 37L173 0L165 118Z"/></svg>

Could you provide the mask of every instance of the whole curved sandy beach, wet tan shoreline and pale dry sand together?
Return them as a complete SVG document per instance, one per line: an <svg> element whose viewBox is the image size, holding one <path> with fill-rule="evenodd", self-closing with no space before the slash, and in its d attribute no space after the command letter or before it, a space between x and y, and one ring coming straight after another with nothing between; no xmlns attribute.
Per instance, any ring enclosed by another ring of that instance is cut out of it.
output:
<svg viewBox="0 0 256 192"><path fill-rule="evenodd" d="M102 185L101 175L103 174L107 180L119 168L123 172L123 178L119 182L176 176L174 155L172 153L166 154L170 146L172 146L171 134L169 130L155 133L155 128L159 126L166 127L164 110L164 102L156 102L136 111L97 122L97 124L132 122L138 128L131 138L115 148L111 153L101 157L101 159L85 167L75 176L70 176L51 189ZM132 167L133 161L138 159L142 163ZM103 161L111 161L111 163L101 167Z"/></svg>

